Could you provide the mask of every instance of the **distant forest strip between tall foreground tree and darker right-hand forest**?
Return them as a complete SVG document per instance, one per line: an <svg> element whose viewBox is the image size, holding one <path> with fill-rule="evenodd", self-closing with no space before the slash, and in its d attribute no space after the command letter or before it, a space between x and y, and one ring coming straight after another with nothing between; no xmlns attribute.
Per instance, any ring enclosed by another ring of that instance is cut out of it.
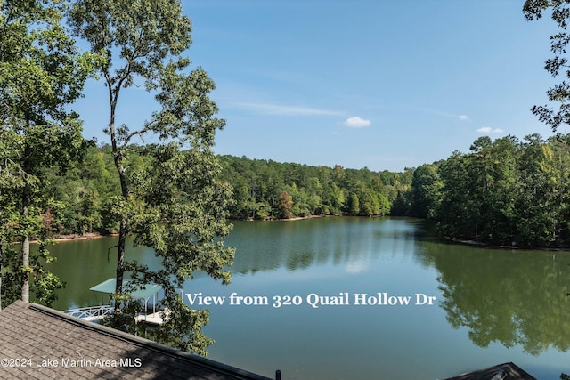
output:
<svg viewBox="0 0 570 380"><path fill-rule="evenodd" d="M233 186L231 214L238 219L387 215L398 191L408 190L412 174L411 169L390 173L232 156L220 160L224 179Z"/></svg>

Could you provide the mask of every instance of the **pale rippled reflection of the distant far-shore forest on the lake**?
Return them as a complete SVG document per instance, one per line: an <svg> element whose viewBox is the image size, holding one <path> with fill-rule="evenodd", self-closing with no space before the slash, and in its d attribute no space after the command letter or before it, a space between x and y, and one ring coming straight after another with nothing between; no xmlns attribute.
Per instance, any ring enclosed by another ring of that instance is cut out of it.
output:
<svg viewBox="0 0 570 380"><path fill-rule="evenodd" d="M234 222L236 233L225 241L228 246L237 248L234 273L279 268L297 271L325 263L346 265L347 271L360 272L379 255L413 251L417 226L396 221L331 217Z"/></svg>

